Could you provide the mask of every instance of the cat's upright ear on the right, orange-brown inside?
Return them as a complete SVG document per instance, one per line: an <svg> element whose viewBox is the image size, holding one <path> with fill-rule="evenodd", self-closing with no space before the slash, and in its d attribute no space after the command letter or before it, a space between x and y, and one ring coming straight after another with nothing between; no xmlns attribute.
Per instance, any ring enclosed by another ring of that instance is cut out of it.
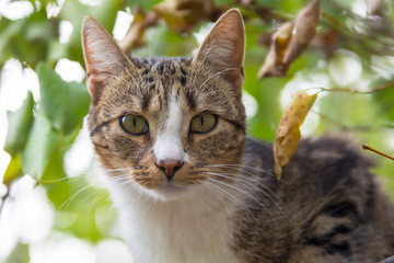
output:
<svg viewBox="0 0 394 263"><path fill-rule="evenodd" d="M216 22L194 56L192 65L208 64L217 73L242 90L245 54L245 26L237 9L230 9Z"/></svg>

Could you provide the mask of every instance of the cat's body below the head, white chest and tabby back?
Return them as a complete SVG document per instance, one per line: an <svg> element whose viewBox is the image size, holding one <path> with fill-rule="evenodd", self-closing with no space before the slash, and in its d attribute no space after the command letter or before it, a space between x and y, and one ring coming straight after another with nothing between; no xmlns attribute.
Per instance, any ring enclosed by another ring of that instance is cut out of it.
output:
<svg viewBox="0 0 394 263"><path fill-rule="evenodd" d="M270 145L248 139L243 163L247 179L223 187L232 197L152 204L112 184L137 262L362 263L393 253L393 208L345 139L303 141L281 181Z"/></svg>

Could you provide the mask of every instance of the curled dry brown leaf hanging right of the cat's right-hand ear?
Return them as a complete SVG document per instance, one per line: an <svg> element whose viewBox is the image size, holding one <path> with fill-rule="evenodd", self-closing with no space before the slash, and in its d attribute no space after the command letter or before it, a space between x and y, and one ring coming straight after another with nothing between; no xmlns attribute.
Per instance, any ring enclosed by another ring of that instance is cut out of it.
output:
<svg viewBox="0 0 394 263"><path fill-rule="evenodd" d="M297 15L296 22L282 24L271 37L269 53L257 78L286 75L292 61L303 53L316 34L320 0L313 0Z"/></svg>

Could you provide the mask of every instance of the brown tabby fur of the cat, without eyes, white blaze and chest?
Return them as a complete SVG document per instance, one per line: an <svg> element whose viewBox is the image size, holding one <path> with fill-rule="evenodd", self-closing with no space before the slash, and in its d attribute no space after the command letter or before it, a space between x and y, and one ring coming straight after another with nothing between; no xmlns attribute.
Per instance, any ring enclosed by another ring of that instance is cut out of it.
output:
<svg viewBox="0 0 394 263"><path fill-rule="evenodd" d="M148 191L163 184L153 145L172 100L178 102L179 137L189 160L173 183L215 180L235 193L223 197L235 207L228 218L234 262L378 262L394 254L394 209L369 172L371 162L347 139L303 140L278 181L273 147L245 137L244 30L237 10L220 19L193 58L128 58L91 18L84 21L83 45L92 96L89 127L108 175L127 168L127 179ZM201 112L216 114L218 125L190 134L189 123ZM147 119L149 135L119 128L127 114Z"/></svg>

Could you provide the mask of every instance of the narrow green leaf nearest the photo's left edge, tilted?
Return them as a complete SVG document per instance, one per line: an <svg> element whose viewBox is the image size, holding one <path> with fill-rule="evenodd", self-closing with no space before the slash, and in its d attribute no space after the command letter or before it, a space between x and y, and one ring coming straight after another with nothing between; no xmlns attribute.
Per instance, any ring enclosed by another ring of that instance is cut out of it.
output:
<svg viewBox="0 0 394 263"><path fill-rule="evenodd" d="M34 99L32 92L27 93L26 100L21 108L8 113L9 129L4 144L4 150L14 157L23 149L32 123L33 123Z"/></svg>

